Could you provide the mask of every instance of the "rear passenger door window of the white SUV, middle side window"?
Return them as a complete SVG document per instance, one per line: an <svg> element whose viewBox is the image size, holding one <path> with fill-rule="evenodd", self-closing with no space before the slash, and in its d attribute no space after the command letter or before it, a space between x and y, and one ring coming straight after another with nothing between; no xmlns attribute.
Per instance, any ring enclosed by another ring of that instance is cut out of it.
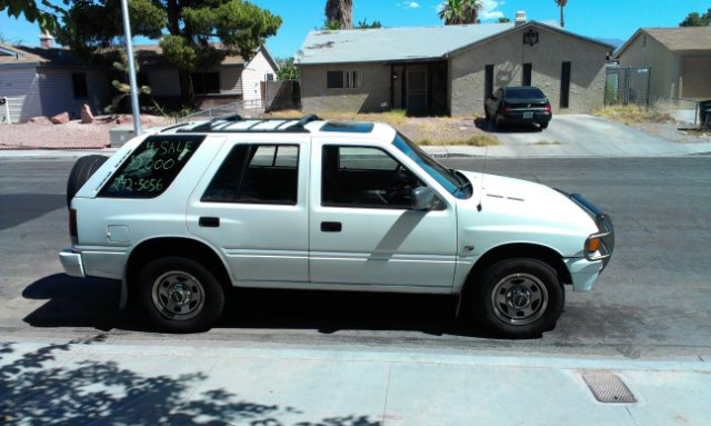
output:
<svg viewBox="0 0 711 426"><path fill-rule="evenodd" d="M293 206L299 192L298 165L296 145L237 145L201 200Z"/></svg>

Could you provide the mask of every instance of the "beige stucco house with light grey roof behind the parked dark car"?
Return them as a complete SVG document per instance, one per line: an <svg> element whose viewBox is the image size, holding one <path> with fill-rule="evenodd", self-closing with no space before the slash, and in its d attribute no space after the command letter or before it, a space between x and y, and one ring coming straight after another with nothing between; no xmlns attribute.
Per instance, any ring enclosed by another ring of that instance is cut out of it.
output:
<svg viewBox="0 0 711 426"><path fill-rule="evenodd" d="M483 113L502 86L538 86L555 112L601 108L613 48L555 24L314 30L297 53L303 109Z"/></svg>

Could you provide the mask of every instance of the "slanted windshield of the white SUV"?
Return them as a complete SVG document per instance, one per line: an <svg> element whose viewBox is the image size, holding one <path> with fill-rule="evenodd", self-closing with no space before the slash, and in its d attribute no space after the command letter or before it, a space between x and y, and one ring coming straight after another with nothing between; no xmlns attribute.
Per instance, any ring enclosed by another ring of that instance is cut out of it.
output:
<svg viewBox="0 0 711 426"><path fill-rule="evenodd" d="M422 148L405 138L404 135L397 133L392 145L417 162L422 170L434 178L449 194L460 199L471 197L471 182L464 175L440 165L432 157L428 156Z"/></svg>

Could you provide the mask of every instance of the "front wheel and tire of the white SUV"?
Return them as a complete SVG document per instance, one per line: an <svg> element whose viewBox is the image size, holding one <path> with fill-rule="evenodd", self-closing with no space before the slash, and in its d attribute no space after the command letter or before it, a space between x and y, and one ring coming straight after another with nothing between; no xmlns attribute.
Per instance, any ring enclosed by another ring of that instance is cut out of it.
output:
<svg viewBox="0 0 711 426"><path fill-rule="evenodd" d="M527 258L492 265L472 293L478 319L508 338L537 337L553 329L565 303L555 270Z"/></svg>

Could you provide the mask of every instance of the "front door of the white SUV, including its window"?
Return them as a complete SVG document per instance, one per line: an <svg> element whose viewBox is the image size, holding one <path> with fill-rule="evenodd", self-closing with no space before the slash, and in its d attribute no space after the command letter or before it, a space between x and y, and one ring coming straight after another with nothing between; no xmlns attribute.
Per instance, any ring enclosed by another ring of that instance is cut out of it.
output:
<svg viewBox="0 0 711 426"><path fill-rule="evenodd" d="M382 147L314 140L312 150L312 283L451 288L454 206L410 208L410 191L425 185Z"/></svg>

